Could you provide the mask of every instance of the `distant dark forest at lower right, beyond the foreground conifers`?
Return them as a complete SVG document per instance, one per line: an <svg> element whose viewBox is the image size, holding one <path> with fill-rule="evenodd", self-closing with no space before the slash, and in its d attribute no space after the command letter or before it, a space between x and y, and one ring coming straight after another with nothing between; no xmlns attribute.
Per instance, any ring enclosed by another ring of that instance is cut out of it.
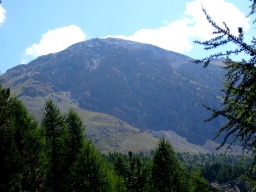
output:
<svg viewBox="0 0 256 192"><path fill-rule="evenodd" d="M232 156L186 153L178 153L178 157L189 173L199 172L209 182L219 183L239 179L253 163L252 157L242 160Z"/></svg>

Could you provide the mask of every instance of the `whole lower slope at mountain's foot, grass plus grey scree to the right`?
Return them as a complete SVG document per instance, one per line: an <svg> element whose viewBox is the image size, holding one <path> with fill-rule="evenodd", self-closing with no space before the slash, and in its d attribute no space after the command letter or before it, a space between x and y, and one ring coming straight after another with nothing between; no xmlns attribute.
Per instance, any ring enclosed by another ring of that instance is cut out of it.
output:
<svg viewBox="0 0 256 192"><path fill-rule="evenodd" d="M95 143L100 152L149 152L157 146L159 138L164 137L170 141L176 151L190 153L215 153L221 154L225 149L215 150L216 143L208 141L205 145L194 145L186 138L182 138L173 131L144 131L126 124L115 116L96 113L79 108L75 102L67 99L67 93L53 93L47 97L20 97L29 111L36 119L42 118L45 100L51 97L62 112L73 109L81 116L86 125L86 134ZM235 147L228 150L228 154L239 154L241 148Z"/></svg>

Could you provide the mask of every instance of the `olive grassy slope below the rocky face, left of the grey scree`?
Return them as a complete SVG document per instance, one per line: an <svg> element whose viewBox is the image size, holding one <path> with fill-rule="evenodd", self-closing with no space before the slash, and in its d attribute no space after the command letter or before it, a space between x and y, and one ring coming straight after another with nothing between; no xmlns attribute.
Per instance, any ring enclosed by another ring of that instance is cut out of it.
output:
<svg viewBox="0 0 256 192"><path fill-rule="evenodd" d="M150 149L156 147L159 141L158 138L140 132L140 129L132 127L114 116L81 109L67 100L57 102L60 98L61 94L51 95L51 99L56 102L62 112L73 109L81 116L84 125L86 125L88 138L93 140L100 152L106 153L114 150L118 152L128 152L129 150L132 152L149 152ZM20 99L36 119L42 118L44 103L49 97L20 97Z"/></svg>

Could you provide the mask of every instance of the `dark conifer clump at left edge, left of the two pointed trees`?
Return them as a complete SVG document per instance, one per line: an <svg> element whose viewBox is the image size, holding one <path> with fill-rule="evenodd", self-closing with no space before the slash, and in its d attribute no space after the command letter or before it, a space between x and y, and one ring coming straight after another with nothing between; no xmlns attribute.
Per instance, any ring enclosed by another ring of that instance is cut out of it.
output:
<svg viewBox="0 0 256 192"><path fill-rule="evenodd" d="M37 122L0 84L0 190L35 191L44 186Z"/></svg>

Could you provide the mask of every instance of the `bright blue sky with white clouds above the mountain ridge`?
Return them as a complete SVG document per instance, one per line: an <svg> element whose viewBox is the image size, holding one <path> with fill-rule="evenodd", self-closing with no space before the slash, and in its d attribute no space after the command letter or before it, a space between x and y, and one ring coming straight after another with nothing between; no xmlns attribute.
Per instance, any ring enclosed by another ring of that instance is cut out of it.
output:
<svg viewBox="0 0 256 192"><path fill-rule="evenodd" d="M253 19L245 17L249 0L3 0L1 73L76 42L108 36L202 58L205 52L193 40L212 37L202 4L216 22L227 22L234 33L243 27L248 41L252 38Z"/></svg>

